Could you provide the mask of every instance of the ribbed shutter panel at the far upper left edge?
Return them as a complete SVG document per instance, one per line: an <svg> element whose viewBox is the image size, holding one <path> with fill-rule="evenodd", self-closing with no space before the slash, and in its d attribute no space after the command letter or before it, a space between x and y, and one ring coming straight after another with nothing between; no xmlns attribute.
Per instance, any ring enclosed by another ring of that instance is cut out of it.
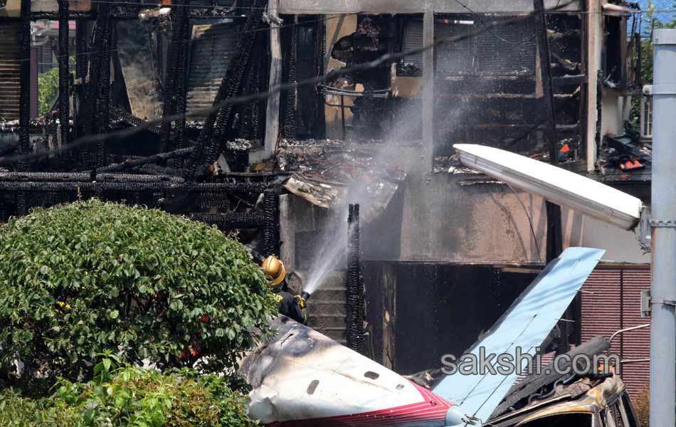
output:
<svg viewBox="0 0 676 427"><path fill-rule="evenodd" d="M19 120L19 23L0 26L0 120Z"/></svg>

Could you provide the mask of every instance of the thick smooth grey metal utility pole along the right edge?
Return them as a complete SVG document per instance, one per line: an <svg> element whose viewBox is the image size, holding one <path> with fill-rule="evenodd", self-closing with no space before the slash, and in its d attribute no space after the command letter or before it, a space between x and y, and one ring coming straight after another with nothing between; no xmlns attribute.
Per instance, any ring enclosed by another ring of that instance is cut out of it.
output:
<svg viewBox="0 0 676 427"><path fill-rule="evenodd" d="M676 30L656 30L653 62L653 278L650 425L674 427L676 401ZM661 222L660 222L661 221Z"/></svg>

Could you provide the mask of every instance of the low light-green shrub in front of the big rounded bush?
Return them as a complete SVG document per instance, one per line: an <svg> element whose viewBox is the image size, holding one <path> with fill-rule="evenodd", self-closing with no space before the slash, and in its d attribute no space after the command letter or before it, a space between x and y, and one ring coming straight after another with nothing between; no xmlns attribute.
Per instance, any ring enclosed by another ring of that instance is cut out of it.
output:
<svg viewBox="0 0 676 427"><path fill-rule="evenodd" d="M93 381L60 381L48 399L0 394L2 426L253 427L245 413L245 394L228 381L195 371L162 373L152 369L115 369L112 357L94 367Z"/></svg>

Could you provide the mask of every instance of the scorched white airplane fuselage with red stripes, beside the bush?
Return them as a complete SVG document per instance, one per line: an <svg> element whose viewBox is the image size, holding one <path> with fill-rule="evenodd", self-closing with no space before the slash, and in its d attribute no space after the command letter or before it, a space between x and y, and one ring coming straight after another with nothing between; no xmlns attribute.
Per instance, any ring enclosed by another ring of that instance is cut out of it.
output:
<svg viewBox="0 0 676 427"><path fill-rule="evenodd" d="M278 427L443 427L452 404L315 330L281 317L246 357L250 416Z"/></svg>

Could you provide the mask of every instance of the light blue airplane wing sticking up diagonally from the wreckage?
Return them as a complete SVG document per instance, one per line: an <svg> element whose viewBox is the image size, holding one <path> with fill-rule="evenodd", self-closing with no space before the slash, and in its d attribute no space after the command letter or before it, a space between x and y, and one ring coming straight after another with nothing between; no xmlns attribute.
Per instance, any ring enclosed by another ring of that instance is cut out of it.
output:
<svg viewBox="0 0 676 427"><path fill-rule="evenodd" d="M497 355L514 356L518 347L522 354L534 356L603 253L605 251L601 249L568 248L551 261L480 342L466 352L475 357L484 350L486 355L495 354L490 365L496 372L490 369L472 374L456 372L444 376L433 393L458 405L461 413L477 421L487 421L518 377L516 371L505 374L497 371ZM522 366L524 364L527 364L526 360ZM451 425L474 424L462 421Z"/></svg>

